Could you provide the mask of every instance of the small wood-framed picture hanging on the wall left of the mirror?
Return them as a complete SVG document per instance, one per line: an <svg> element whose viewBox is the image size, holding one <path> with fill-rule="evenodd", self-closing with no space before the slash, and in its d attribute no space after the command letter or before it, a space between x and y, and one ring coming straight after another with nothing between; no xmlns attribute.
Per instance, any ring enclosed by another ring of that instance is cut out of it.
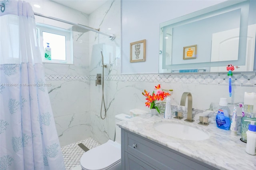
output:
<svg viewBox="0 0 256 170"><path fill-rule="evenodd" d="M146 61L146 40L130 43L130 63Z"/></svg>

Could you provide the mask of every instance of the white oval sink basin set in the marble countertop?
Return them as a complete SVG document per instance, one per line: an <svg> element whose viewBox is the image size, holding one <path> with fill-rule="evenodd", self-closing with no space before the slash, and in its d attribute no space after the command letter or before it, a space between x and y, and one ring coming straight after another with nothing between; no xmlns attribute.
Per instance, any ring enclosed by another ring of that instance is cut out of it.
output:
<svg viewBox="0 0 256 170"><path fill-rule="evenodd" d="M181 123L159 122L154 124L154 128L167 136L184 140L206 140L210 137L208 132L202 128Z"/></svg>

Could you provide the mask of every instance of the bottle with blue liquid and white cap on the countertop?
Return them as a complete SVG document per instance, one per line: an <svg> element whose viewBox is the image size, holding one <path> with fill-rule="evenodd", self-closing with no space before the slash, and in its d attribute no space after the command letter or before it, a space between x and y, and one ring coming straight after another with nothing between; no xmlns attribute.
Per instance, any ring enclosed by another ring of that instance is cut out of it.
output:
<svg viewBox="0 0 256 170"><path fill-rule="evenodd" d="M216 115L216 125L218 128L230 130L230 110L226 98L220 98L219 110Z"/></svg>

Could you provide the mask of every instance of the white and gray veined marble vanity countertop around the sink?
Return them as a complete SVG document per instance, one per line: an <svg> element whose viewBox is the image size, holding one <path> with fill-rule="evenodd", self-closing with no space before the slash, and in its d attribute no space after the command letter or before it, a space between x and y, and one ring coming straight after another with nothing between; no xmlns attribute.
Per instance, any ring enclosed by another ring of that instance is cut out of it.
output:
<svg viewBox="0 0 256 170"><path fill-rule="evenodd" d="M234 136L230 130L217 128L213 123L203 126L198 125L199 121L187 123L184 119L169 120L164 119L163 115L146 114L118 122L117 125L221 170L256 170L256 155L246 153L246 143L240 141L240 135ZM210 138L198 141L182 140L154 130L155 123L171 121L203 128Z"/></svg>

